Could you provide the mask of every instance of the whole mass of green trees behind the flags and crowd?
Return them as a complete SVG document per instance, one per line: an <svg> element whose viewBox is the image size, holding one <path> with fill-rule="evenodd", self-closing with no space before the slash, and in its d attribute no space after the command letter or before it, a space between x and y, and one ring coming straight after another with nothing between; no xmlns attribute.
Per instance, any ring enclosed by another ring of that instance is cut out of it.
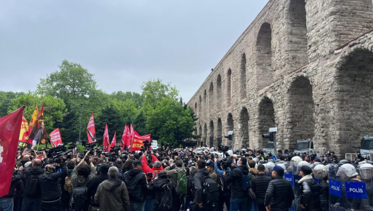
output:
<svg viewBox="0 0 373 211"><path fill-rule="evenodd" d="M145 81L142 93L115 91L106 93L96 85L94 75L78 63L62 61L58 70L41 78L35 92L0 91L0 116L26 105L24 116L30 120L36 105L44 103L44 125L48 133L60 128L64 142L82 139L94 113L97 140L102 143L105 124L110 139L114 132L121 138L125 125L133 124L140 135L176 144L193 137L195 116L178 97L178 90L161 79ZM119 142L118 142L119 143Z"/></svg>

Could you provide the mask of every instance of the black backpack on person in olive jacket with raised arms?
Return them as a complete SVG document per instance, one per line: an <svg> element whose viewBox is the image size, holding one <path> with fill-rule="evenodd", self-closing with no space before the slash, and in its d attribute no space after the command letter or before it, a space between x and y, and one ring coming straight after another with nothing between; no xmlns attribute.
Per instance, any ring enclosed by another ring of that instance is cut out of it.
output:
<svg viewBox="0 0 373 211"><path fill-rule="evenodd" d="M71 205L74 210L83 210L88 204L88 192L86 183L88 178L84 181L83 185L80 185L77 177L74 182L73 194L71 195Z"/></svg>

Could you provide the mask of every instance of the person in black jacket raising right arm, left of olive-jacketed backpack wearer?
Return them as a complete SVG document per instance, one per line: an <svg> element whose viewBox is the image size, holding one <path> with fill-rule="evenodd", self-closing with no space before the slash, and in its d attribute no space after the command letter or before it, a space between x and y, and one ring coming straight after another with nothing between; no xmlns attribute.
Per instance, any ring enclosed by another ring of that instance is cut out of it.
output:
<svg viewBox="0 0 373 211"><path fill-rule="evenodd" d="M62 210L61 208L61 186L58 183L59 178L64 178L68 172L66 162L61 161L58 173L54 165L45 166L44 174L39 176L41 189L41 210Z"/></svg>

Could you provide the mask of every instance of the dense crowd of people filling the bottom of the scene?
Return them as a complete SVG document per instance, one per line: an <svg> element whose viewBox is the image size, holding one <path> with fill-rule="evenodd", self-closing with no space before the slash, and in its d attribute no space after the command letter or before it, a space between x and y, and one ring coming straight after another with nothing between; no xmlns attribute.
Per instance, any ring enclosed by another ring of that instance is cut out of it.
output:
<svg viewBox="0 0 373 211"><path fill-rule="evenodd" d="M19 151L0 210L373 210L373 165L361 155L339 161L329 151L278 150L272 160L264 150L227 146L57 148ZM330 195L330 178L365 182L367 199Z"/></svg>

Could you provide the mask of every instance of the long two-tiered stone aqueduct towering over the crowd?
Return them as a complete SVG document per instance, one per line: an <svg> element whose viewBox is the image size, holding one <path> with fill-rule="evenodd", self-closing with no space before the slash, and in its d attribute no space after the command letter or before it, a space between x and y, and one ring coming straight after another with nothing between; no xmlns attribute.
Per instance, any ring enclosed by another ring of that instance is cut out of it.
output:
<svg viewBox="0 0 373 211"><path fill-rule="evenodd" d="M373 135L371 0L270 0L189 100L207 146L277 146L341 156Z"/></svg>

